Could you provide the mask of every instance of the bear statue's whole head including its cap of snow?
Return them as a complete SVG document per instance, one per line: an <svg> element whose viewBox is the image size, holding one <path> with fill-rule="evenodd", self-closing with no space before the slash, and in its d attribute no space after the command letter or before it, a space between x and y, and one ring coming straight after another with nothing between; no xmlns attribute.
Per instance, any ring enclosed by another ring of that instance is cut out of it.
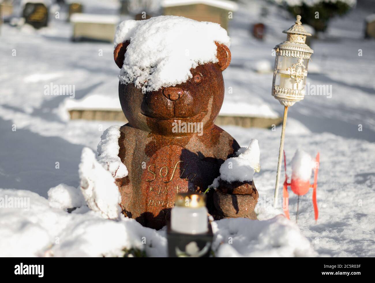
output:
<svg viewBox="0 0 375 283"><path fill-rule="evenodd" d="M230 39L219 24L160 16L123 21L114 39L121 107L130 125L167 135L174 123L210 126L223 97Z"/></svg>

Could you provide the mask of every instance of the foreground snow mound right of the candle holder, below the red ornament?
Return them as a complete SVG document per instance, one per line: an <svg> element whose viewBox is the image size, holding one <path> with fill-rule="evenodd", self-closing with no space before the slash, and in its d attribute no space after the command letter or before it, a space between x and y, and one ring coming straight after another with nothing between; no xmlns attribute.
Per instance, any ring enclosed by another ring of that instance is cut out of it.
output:
<svg viewBox="0 0 375 283"><path fill-rule="evenodd" d="M219 257L317 256L298 226L283 215L264 221L222 219L213 222L213 232L213 250ZM228 239L231 244L227 244Z"/></svg>

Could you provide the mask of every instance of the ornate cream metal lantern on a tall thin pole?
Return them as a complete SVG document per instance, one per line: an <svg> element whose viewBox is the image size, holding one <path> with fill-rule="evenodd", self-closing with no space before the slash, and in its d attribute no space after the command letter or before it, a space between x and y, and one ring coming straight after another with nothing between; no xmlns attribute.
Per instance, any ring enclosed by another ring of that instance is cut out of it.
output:
<svg viewBox="0 0 375 283"><path fill-rule="evenodd" d="M281 171L282 153L284 148L285 125L287 123L288 107L301 101L305 96L306 76L310 56L314 53L306 43L306 32L301 23L301 16L288 30L287 40L278 44L276 51L275 68L273 71L272 95L284 105L284 118L281 130L278 171L276 175L274 206L277 205L279 178Z"/></svg>

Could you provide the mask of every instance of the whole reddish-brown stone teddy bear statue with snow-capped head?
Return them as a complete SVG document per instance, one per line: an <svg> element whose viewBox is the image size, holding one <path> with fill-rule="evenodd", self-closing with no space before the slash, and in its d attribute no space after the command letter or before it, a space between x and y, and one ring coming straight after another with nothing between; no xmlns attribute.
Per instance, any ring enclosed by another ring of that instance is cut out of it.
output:
<svg viewBox="0 0 375 283"><path fill-rule="evenodd" d="M181 27L184 32L175 33ZM204 28L207 32L197 36L204 33ZM116 179L116 184L123 213L143 226L165 226L176 194L204 193L220 175L221 164L240 149L231 135L214 125L224 98L222 71L231 61L229 48L212 39L217 30L227 37L218 24L173 16L124 21L117 29L114 60L121 68L118 95L129 121L120 128L118 156L129 174ZM189 37L198 41L184 46ZM175 76L181 67L178 60L186 66L186 60L193 59L175 55L174 50L185 50L187 46L199 58L199 52L205 52L205 42L211 50L214 47L211 62L193 62L193 67L187 69L188 76L178 83L163 79L160 72L153 77L157 68L168 66L172 66L172 72L166 72L165 77ZM148 69L147 64L151 65ZM155 86L159 81L162 86ZM186 125L197 127L192 132ZM253 181L220 181L219 187L206 195L207 208L214 219L256 219L258 192Z"/></svg>

